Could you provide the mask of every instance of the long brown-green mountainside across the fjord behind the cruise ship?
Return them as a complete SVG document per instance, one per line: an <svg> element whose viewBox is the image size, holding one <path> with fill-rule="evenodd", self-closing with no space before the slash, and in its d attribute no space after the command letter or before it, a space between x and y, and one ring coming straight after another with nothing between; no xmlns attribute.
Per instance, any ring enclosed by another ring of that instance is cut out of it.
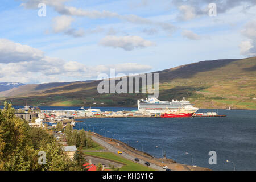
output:
<svg viewBox="0 0 256 182"><path fill-rule="evenodd" d="M154 73L159 73L159 100L185 97L199 108L256 109L256 57L199 61ZM100 82L23 85L0 92L0 105L7 100L14 105L137 106L137 99L147 97L99 94Z"/></svg>

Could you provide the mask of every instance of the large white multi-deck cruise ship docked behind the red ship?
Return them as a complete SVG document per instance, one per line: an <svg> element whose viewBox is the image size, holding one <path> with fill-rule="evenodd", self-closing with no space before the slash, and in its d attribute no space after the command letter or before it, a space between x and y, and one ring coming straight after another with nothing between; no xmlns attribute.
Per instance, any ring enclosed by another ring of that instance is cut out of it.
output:
<svg viewBox="0 0 256 182"><path fill-rule="evenodd" d="M175 111L187 111L191 113L195 113L199 108L194 107L195 104L191 104L189 101L186 101L185 98L181 101L159 101L157 98L147 98L137 100L138 103L138 110L145 111L149 113L166 113L168 112L175 112Z"/></svg>

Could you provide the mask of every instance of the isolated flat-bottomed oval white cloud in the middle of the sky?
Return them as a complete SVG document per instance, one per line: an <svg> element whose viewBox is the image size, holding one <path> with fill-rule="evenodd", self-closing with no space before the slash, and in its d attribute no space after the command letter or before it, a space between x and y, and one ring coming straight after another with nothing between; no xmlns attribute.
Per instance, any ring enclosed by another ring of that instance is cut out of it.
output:
<svg viewBox="0 0 256 182"><path fill-rule="evenodd" d="M125 49L125 51L132 51L135 48L155 46L155 43L149 40L144 40L139 36L106 36L101 39L100 44L107 47L119 47Z"/></svg>

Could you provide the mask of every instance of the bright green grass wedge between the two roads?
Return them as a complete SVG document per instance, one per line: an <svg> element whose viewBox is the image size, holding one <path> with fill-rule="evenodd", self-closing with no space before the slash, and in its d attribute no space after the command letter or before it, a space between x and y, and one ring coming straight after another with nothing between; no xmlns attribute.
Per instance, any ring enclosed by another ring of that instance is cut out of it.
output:
<svg viewBox="0 0 256 182"><path fill-rule="evenodd" d="M121 171L154 171L152 168L132 162L131 160L122 158L121 156L111 152L85 152L85 155L86 154L126 164L120 168Z"/></svg>

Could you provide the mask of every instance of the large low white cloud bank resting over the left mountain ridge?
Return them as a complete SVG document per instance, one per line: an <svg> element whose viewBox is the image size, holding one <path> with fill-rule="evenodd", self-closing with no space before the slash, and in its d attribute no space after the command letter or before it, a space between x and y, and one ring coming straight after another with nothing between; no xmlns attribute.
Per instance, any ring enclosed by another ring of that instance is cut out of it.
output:
<svg viewBox="0 0 256 182"><path fill-rule="evenodd" d="M4 43L10 46L3 49ZM116 69L116 73L137 73L152 69L149 65L136 63L90 66L77 61L64 61L56 57L44 56L42 51L30 46L0 39L0 82L42 83L86 80L97 78L100 73L108 73L110 68Z"/></svg>

